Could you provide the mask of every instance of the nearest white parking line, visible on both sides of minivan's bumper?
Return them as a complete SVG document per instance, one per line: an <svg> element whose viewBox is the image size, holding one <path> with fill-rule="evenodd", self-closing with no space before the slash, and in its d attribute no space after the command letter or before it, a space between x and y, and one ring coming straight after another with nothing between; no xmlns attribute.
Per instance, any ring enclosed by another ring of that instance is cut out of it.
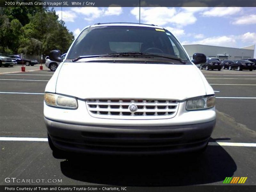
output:
<svg viewBox="0 0 256 192"><path fill-rule="evenodd" d="M35 137L0 137L0 141L48 141L47 138ZM256 147L256 143L209 142L213 146Z"/></svg>

